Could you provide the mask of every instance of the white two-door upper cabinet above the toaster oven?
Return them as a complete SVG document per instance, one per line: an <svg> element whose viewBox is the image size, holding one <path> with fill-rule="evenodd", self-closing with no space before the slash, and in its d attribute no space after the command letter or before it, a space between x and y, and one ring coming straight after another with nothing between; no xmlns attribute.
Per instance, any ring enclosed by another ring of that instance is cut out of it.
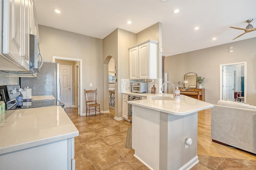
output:
<svg viewBox="0 0 256 170"><path fill-rule="evenodd" d="M157 78L157 43L150 39L129 48L130 80Z"/></svg>

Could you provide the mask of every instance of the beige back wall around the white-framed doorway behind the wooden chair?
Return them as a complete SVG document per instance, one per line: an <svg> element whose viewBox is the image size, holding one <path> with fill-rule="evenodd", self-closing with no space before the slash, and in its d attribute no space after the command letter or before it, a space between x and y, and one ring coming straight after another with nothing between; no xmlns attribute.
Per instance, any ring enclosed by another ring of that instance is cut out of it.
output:
<svg viewBox="0 0 256 170"><path fill-rule="evenodd" d="M102 94L102 39L39 25L40 52L44 60L52 56L82 59L82 89L96 89L98 103L103 104ZM92 83L92 87L90 87ZM84 96L84 94L81 94ZM81 102L85 113L85 100Z"/></svg>

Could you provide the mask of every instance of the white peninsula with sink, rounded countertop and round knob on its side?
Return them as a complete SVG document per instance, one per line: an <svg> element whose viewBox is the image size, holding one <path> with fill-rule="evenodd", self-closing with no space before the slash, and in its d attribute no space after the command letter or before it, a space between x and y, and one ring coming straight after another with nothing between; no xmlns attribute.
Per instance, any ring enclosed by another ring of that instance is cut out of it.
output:
<svg viewBox="0 0 256 170"><path fill-rule="evenodd" d="M146 100L128 104L132 104L134 156L148 168L186 170L199 162L198 111L212 104L184 95L174 100L173 94L147 94Z"/></svg>

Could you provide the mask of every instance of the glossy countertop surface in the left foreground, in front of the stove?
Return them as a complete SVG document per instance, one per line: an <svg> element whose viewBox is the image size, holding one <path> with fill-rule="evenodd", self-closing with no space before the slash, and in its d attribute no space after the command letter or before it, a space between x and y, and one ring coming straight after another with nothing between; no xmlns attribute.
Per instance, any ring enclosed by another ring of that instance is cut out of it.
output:
<svg viewBox="0 0 256 170"><path fill-rule="evenodd" d="M78 136L61 106L7 110L0 115L0 154Z"/></svg>

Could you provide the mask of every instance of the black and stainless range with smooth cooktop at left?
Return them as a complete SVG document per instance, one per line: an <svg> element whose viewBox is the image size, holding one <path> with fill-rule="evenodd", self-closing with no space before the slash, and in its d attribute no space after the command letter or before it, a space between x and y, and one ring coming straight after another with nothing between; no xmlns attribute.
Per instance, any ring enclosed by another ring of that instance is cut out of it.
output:
<svg viewBox="0 0 256 170"><path fill-rule="evenodd" d="M26 109L26 108L34 108L34 107L47 107L47 106L62 106L65 110L66 107L59 100L32 100L32 99L24 99L21 101L17 101L16 97L20 96L20 92L22 89L19 85L5 85L0 86L0 96L1 100L5 102L6 110L13 109Z"/></svg>

